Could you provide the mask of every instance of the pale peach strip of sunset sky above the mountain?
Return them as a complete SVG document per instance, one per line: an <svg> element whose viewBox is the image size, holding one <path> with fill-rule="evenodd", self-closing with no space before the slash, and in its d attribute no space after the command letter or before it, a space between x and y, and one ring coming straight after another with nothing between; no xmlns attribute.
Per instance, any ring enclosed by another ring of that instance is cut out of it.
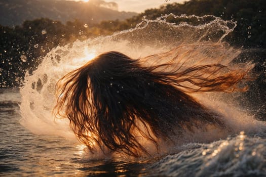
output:
<svg viewBox="0 0 266 177"><path fill-rule="evenodd" d="M77 0L78 1L78 0ZM88 0L84 0L85 2ZM164 3L182 3L185 0L104 0L105 2L115 2L119 11L144 12L146 9L159 8ZM188 1L188 0L186 0Z"/></svg>

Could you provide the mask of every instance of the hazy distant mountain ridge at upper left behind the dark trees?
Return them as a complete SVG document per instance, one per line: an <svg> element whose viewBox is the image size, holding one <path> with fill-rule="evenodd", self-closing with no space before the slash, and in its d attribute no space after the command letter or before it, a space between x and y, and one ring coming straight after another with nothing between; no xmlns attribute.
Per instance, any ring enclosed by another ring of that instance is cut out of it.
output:
<svg viewBox="0 0 266 177"><path fill-rule="evenodd" d="M118 12L116 3L102 0L85 2L64 0L0 0L0 25L21 25L25 20L49 18L62 23L79 19L85 23L124 20L137 13Z"/></svg>

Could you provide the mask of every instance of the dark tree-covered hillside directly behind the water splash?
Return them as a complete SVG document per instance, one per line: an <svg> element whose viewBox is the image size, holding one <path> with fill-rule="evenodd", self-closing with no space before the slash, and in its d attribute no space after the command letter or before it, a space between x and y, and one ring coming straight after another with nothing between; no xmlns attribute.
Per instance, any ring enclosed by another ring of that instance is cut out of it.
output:
<svg viewBox="0 0 266 177"><path fill-rule="evenodd" d="M264 0L191 0L184 4L167 4L126 20L102 21L86 24L81 20L65 24L47 18L24 21L20 26L0 25L0 87L20 86L25 71L32 72L51 49L64 46L77 39L85 40L116 31L130 29L143 16L156 19L162 14L214 15L223 20L237 21L235 30L226 36L226 41L236 47L260 48L266 46L266 3ZM259 54L263 63L265 52ZM263 68L258 68L262 70Z"/></svg>

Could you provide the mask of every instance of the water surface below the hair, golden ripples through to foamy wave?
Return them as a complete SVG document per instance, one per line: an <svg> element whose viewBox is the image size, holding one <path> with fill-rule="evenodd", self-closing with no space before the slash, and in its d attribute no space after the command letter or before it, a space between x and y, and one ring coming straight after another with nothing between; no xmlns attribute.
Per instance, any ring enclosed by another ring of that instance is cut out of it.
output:
<svg viewBox="0 0 266 177"><path fill-rule="evenodd" d="M18 92L0 90L0 176L266 176L263 132L184 144L161 158L90 160L77 141L34 135L21 126L19 102Z"/></svg>

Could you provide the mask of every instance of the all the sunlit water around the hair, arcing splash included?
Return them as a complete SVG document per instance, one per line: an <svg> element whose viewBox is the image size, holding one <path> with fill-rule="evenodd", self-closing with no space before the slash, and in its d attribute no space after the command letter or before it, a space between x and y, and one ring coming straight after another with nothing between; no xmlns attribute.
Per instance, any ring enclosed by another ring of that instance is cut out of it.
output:
<svg viewBox="0 0 266 177"><path fill-rule="evenodd" d="M140 159L90 154L74 137L69 122L52 114L56 81L102 52L142 58L175 49L177 59L186 61L183 67L195 62L230 65L241 50L223 40L235 26L214 16L166 15L53 49L25 76L21 88L0 90L0 176L266 176L266 123L260 121L263 117L255 118L254 112L261 110L243 107L241 93L193 95L224 115L234 129L231 134L199 129L167 153ZM167 59L151 58L146 64Z"/></svg>

